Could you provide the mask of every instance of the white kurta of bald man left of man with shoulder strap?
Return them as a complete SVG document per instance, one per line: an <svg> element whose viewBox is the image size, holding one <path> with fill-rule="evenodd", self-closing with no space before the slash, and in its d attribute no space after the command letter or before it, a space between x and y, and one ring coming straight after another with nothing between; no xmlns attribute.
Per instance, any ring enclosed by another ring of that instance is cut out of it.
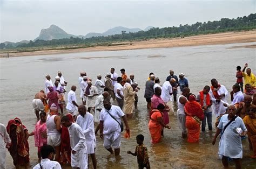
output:
<svg viewBox="0 0 256 169"><path fill-rule="evenodd" d="M83 116L77 116L76 123L82 128L84 132L84 136L86 139L87 144L87 153L93 154L95 153L96 147L96 138L95 138L95 130L94 130L94 123L93 123L93 115L90 112L86 112Z"/></svg>

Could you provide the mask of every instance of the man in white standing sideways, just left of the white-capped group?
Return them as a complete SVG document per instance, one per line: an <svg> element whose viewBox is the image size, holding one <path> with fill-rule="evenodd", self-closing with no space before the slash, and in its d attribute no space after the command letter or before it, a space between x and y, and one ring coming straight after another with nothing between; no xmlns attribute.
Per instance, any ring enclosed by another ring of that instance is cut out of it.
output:
<svg viewBox="0 0 256 169"><path fill-rule="evenodd" d="M77 98L76 98L76 91L77 87L72 86L71 90L68 94L68 104L66 104L66 109L73 115L76 116L78 104L77 104Z"/></svg>

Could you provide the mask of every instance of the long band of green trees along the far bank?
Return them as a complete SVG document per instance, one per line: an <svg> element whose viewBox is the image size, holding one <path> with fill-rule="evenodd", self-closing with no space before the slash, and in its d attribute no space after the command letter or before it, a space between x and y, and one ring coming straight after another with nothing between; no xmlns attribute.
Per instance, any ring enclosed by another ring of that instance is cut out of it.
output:
<svg viewBox="0 0 256 169"><path fill-rule="evenodd" d="M28 44L0 44L0 49L3 48L28 48L28 47L47 47L47 46L62 46L62 45L82 45L93 46L95 44L106 45L117 41L132 41L151 38L177 38L187 37L198 34L210 34L220 33L228 31L241 31L241 30L253 30L256 28L256 13L251 13L248 16L238 17L237 19L222 18L218 21L208 21L207 23L197 22L192 25L179 25L179 27L153 27L148 31L129 32L122 34L115 34L112 36L101 36L92 38L65 38L65 39L53 39L53 40L30 40Z"/></svg>

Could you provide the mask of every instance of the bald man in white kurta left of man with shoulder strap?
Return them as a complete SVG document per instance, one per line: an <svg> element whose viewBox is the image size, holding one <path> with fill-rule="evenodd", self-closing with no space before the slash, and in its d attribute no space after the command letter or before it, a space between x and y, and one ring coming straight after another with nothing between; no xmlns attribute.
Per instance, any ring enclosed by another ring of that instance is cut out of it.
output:
<svg viewBox="0 0 256 169"><path fill-rule="evenodd" d="M79 105L79 115L76 123L82 128L87 144L87 154L91 155L93 168L97 168L97 160L95 157L96 138L93 124L93 115L87 111L86 105ZM89 164L89 161L88 161Z"/></svg>

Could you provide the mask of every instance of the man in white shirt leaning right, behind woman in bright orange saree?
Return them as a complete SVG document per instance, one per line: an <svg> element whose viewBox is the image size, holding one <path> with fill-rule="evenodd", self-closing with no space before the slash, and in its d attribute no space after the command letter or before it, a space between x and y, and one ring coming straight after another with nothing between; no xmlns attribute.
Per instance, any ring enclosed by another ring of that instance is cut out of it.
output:
<svg viewBox="0 0 256 169"><path fill-rule="evenodd" d="M172 105L172 85L171 82L175 79L170 79L169 81L165 81L162 87L162 92L161 92L161 98L167 104L170 108L169 115L174 114L173 111L173 105Z"/></svg>

